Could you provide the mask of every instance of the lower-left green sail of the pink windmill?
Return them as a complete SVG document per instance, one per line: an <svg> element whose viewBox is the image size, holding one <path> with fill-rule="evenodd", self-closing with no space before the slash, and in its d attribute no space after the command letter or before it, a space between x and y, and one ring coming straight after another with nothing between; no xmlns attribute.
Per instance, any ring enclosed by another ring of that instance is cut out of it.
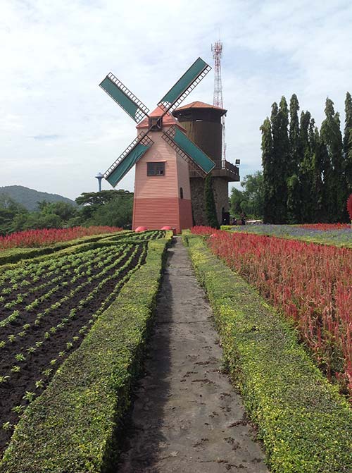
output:
<svg viewBox="0 0 352 473"><path fill-rule="evenodd" d="M120 180L130 171L134 164L142 158L143 154L153 145L153 140L140 133L135 140L132 141L125 151L116 159L115 163L104 173L104 178L113 188Z"/></svg>

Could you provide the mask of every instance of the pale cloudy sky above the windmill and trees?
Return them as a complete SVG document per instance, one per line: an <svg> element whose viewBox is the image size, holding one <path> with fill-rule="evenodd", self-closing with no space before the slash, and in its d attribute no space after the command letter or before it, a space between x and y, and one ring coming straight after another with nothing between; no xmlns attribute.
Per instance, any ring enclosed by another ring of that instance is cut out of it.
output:
<svg viewBox="0 0 352 473"><path fill-rule="evenodd" d="M101 80L112 72L152 111L196 58L213 67L219 38L227 160L241 178L259 171L259 128L282 95L319 126L329 97L343 123L351 25L351 0L0 0L0 187L96 191L136 135ZM213 87L211 70L182 105L212 104ZM117 188L133 185L130 171Z"/></svg>

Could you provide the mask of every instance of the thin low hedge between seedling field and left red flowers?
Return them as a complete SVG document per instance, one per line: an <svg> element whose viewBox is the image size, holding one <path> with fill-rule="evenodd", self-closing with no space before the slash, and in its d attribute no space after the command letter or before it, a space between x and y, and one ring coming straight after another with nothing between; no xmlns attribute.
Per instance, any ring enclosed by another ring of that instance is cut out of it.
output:
<svg viewBox="0 0 352 473"><path fill-rule="evenodd" d="M119 232L121 238L125 236L127 231ZM94 242L96 240L101 240L107 238L111 233L101 233L100 235L92 235L82 238L76 238L75 240L68 240L65 242L54 243L54 245L49 245L46 247L38 248L11 248L10 250L2 250L0 252L0 266L4 264L13 264L18 263L22 259L32 259L46 254L52 254L60 250L65 250L68 247L75 245L82 245L84 243ZM116 236L116 235L115 235ZM2 267L1 267L2 269Z"/></svg>

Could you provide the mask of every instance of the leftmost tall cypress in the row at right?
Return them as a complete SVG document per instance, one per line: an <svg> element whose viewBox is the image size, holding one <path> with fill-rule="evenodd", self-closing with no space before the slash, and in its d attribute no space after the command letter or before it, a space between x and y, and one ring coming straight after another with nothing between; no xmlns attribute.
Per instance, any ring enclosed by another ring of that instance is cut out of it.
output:
<svg viewBox="0 0 352 473"><path fill-rule="evenodd" d="M275 104L276 105L276 104ZM277 106L277 105L276 105ZM265 118L260 126L262 133L262 166L263 166L263 221L275 222L275 162L272 149L272 131L270 119Z"/></svg>

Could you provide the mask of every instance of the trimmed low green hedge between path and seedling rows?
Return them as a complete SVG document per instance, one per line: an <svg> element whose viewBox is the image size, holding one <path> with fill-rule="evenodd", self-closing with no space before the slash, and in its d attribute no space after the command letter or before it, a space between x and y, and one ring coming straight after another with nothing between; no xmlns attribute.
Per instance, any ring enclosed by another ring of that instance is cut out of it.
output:
<svg viewBox="0 0 352 473"><path fill-rule="evenodd" d="M167 238L148 243L146 262L56 372L15 428L1 473L112 472L115 433L156 304Z"/></svg>

